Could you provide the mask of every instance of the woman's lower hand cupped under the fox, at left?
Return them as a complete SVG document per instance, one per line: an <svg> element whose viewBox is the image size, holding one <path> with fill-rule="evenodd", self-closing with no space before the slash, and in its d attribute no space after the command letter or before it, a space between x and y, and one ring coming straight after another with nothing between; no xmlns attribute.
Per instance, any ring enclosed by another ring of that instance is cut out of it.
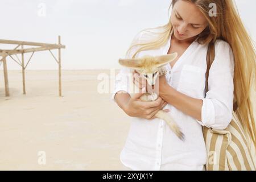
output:
<svg viewBox="0 0 256 182"><path fill-rule="evenodd" d="M158 97L155 101L145 102L139 100L139 98L144 94L145 91L140 89L140 92L134 94L127 102L124 107L124 111L130 117L138 117L144 119L155 119L155 114L162 110L164 106L167 105L167 102L162 100L162 98ZM165 109L165 112L169 112L170 110Z"/></svg>

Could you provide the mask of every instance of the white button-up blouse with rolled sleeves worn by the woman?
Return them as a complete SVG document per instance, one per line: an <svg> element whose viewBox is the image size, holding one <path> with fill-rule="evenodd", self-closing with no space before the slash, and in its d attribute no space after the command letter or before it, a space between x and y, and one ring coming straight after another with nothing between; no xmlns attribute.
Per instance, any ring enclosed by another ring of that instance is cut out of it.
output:
<svg viewBox="0 0 256 182"><path fill-rule="evenodd" d="M136 57L167 54L171 36L163 47L139 52ZM147 32L142 32L135 36L133 41L140 42L149 38ZM148 121L131 117L129 134L120 155L123 165L133 170L204 169L207 152L201 125L214 129L225 129L229 125L232 120L234 76L232 49L224 40L218 39L215 43L216 56L209 71L209 91L204 98L207 48L208 45L201 45L195 40L176 61L173 68L170 64L165 66L168 71L166 79L172 88L187 96L203 100L202 121L197 121L170 104L164 107L170 109L168 114L172 115L183 131L185 135L183 142L162 119L155 118ZM130 58L133 51L126 57ZM114 96L119 90L130 93L127 73L132 71L129 68L122 68L115 77L112 95L114 102Z"/></svg>

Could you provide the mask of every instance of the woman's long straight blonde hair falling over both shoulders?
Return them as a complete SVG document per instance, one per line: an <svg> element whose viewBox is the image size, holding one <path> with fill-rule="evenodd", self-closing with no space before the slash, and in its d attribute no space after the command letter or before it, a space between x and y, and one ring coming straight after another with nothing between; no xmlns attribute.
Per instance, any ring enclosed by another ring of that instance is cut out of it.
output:
<svg viewBox="0 0 256 182"><path fill-rule="evenodd" d="M172 0L170 7L174 6L179 0ZM199 44L208 44L217 39L229 43L234 55L234 101L237 101L238 109L236 111L238 119L256 147L255 140L255 119L253 115L253 97L255 96L255 47L253 39L247 33L241 18L238 14L236 3L233 0L183 0L194 3L201 13L208 20L209 26L198 35ZM217 16L209 16L209 4L215 3L217 6ZM169 11L170 11L169 7ZM150 30L162 30L152 32ZM131 57L135 57L138 52L149 49L156 49L167 43L170 34L172 34L171 18L164 26L156 28L147 28L142 31L148 31L156 34L156 38L150 42L132 43L126 53L129 53L133 47L138 47ZM141 31L141 32L142 32Z"/></svg>

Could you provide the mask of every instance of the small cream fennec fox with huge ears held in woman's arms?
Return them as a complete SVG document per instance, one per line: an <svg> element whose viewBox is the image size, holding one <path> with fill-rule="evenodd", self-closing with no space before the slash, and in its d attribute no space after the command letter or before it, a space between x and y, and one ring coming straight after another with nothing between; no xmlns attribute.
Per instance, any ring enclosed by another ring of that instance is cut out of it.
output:
<svg viewBox="0 0 256 182"><path fill-rule="evenodd" d="M119 64L123 67L135 69L140 75L142 75L147 80L147 84L150 86L154 86L156 83L156 79L166 75L166 69L164 69L164 65L169 64L171 61L175 60L177 57L177 53L172 53L168 55L161 56L143 56L137 59L119 59ZM158 94L153 93L144 93L140 99L142 101L155 101L158 98ZM155 117L163 119L170 126L170 129L174 131L174 133L181 140L184 140L184 134L180 131L179 126L177 126L176 122L172 117L164 112L163 110L159 110L158 113L155 114Z"/></svg>

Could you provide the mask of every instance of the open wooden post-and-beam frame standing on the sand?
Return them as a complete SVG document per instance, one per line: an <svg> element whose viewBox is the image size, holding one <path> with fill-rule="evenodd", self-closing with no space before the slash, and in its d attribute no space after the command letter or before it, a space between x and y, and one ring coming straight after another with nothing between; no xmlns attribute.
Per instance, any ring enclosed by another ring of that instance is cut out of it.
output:
<svg viewBox="0 0 256 182"><path fill-rule="evenodd" d="M65 48L64 45L60 43L60 36L59 36L59 43L58 44L47 44L47 43L36 43L36 42L23 42L23 41L16 41L16 40L1 40L0 44L14 44L16 47L14 49L0 49L0 63L3 63L3 75L5 78L5 96L10 96L9 93L9 84L8 84L8 73L7 73L7 61L6 57L10 56L16 63L18 63L22 67L22 80L23 80L23 94L26 94L26 85L25 85L25 69L30 62L34 52L37 51L49 51L53 58L56 60L57 64L59 65L59 96L61 96L61 48ZM24 48L24 46L36 46L33 48ZM58 49L58 59L53 55L52 49ZM27 64L24 64L24 53L32 52L30 59L28 60ZM22 61L20 62L19 57L16 56L21 54ZM16 56L18 59L15 60L13 55Z"/></svg>

